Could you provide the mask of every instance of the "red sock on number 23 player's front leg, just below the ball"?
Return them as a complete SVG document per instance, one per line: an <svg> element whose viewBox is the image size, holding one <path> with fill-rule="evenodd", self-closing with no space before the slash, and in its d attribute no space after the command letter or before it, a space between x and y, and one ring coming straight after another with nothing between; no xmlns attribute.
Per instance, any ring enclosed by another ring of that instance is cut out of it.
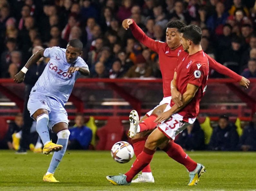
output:
<svg viewBox="0 0 256 191"><path fill-rule="evenodd" d="M137 159L132 164L132 168L127 173L125 173L125 175L127 176L127 182L131 182L136 174L138 174L151 162L154 153L155 150L150 150L144 147L143 151L138 155Z"/></svg>

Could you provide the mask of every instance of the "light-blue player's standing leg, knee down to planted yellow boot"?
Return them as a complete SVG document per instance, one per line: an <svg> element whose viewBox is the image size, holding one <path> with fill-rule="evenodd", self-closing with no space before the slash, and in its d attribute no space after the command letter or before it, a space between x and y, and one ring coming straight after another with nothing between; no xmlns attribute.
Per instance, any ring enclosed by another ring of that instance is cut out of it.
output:
<svg viewBox="0 0 256 191"><path fill-rule="evenodd" d="M66 122L59 122L55 124L52 127L52 130L54 133L57 133L57 136L58 136L57 145L62 145L62 150L58 152L54 152L50 166L46 174L43 176L43 181L45 182L59 182L53 177L53 174L66 152L68 139L70 135L70 132L68 130L68 124Z"/></svg>

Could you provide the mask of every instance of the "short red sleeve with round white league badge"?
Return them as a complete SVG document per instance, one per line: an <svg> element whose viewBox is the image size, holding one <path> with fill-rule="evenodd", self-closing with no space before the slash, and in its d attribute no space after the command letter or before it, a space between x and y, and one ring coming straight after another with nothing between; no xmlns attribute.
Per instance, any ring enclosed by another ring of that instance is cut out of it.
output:
<svg viewBox="0 0 256 191"><path fill-rule="evenodd" d="M192 62L190 66L188 84L193 84L200 87L202 85L202 81L205 75L205 66L202 65L198 69L196 64L199 64L199 62Z"/></svg>

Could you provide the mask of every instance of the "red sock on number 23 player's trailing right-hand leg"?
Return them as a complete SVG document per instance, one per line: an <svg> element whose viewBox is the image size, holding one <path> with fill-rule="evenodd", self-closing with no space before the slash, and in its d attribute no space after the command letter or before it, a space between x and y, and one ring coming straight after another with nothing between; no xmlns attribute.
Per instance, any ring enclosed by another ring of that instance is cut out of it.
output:
<svg viewBox="0 0 256 191"><path fill-rule="evenodd" d="M182 147L174 142L170 142L164 149L169 157L183 164L189 172L195 170L197 163L194 162L182 149Z"/></svg>

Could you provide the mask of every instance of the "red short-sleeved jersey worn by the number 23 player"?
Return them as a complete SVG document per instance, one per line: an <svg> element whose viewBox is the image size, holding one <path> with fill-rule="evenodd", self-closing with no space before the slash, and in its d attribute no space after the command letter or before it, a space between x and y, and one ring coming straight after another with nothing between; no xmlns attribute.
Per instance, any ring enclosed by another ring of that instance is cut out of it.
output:
<svg viewBox="0 0 256 191"><path fill-rule="evenodd" d="M206 90L206 84L209 73L208 58L203 50L186 55L181 58L175 71L177 72L176 86L181 94L186 92L188 84L198 86L198 90L194 98L179 112L183 116L183 120L188 121L188 118L195 118L199 113L199 102ZM171 101L171 106L174 102Z"/></svg>

